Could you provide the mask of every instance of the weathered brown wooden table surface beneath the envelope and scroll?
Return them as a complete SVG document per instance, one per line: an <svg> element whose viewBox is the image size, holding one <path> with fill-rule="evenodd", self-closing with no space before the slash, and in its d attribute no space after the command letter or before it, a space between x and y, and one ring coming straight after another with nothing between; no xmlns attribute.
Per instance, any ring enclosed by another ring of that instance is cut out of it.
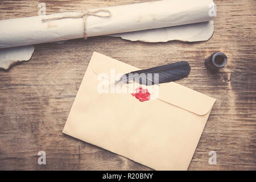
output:
<svg viewBox="0 0 256 182"><path fill-rule="evenodd" d="M48 1L47 14L148 0ZM38 15L42 1L0 1L0 19ZM30 61L0 70L0 169L150 169L61 133L93 51L139 68L188 61L191 74L177 83L217 98L190 170L255 170L255 0L215 0L215 32L207 42L130 42L99 36L64 44L38 44ZM218 73L204 59L221 51L228 64ZM46 151L46 165L38 152ZM208 163L209 151L217 164Z"/></svg>

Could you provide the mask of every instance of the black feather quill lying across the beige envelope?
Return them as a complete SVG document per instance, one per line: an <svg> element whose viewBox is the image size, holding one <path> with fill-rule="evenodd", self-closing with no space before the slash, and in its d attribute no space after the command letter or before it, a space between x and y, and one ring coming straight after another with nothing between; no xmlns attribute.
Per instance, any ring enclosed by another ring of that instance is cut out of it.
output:
<svg viewBox="0 0 256 182"><path fill-rule="evenodd" d="M123 75L119 81L134 80L142 85L156 85L166 82L180 80L187 77L190 72L190 66L186 61L180 61L177 63L166 64L159 67L138 70Z"/></svg>

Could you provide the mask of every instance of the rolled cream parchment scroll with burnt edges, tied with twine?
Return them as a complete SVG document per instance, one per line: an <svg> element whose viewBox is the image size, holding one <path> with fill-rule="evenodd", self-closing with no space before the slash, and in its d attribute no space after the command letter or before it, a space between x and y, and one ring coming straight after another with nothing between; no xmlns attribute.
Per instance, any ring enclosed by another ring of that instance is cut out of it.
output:
<svg viewBox="0 0 256 182"><path fill-rule="evenodd" d="M141 36L142 41L146 39L145 42L151 42L152 39L152 42L158 42L156 37L159 36L159 42L164 42L175 37L184 41L208 40L213 34L211 20L214 13L211 11L215 11L215 8L212 0L164 0L101 9L109 10L112 15L109 18L86 16L88 37L114 34L112 36L123 36L125 39L139 40ZM0 48L83 38L83 18L42 22L42 18L79 14L0 20ZM124 32L131 34L119 34ZM171 38L168 34L172 34Z"/></svg>

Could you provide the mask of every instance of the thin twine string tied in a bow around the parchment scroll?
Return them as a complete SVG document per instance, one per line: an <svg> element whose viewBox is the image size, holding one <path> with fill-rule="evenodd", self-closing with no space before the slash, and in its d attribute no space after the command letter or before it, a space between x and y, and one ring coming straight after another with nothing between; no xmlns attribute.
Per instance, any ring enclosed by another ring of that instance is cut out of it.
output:
<svg viewBox="0 0 256 182"><path fill-rule="evenodd" d="M107 15L101 15L99 13L108 13ZM62 16L57 16L57 17L52 17L52 18L43 18L42 22L49 22L53 20L58 20L58 19L64 19L64 18L82 18L84 22L84 39L87 39L87 34L86 34L86 19L88 16L97 16L100 18L110 18L112 16L112 13L109 10L95 10L95 11L89 11L86 10L84 13L78 14L78 15L62 15Z"/></svg>

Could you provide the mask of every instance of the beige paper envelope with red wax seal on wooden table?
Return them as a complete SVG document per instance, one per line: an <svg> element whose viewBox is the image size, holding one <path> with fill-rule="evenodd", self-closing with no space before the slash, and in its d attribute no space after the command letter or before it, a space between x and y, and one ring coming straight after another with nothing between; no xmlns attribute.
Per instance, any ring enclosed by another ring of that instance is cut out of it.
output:
<svg viewBox="0 0 256 182"><path fill-rule="evenodd" d="M131 93L99 93L102 73L138 70L94 52L63 133L156 170L187 170L214 98L175 82L140 102ZM135 93L135 92L134 92Z"/></svg>

